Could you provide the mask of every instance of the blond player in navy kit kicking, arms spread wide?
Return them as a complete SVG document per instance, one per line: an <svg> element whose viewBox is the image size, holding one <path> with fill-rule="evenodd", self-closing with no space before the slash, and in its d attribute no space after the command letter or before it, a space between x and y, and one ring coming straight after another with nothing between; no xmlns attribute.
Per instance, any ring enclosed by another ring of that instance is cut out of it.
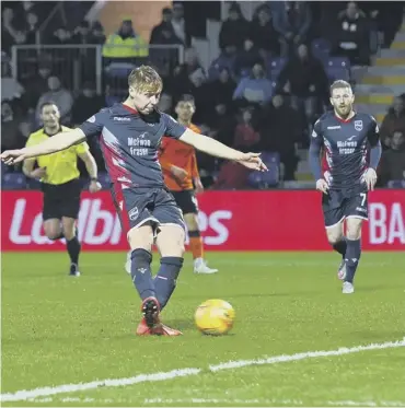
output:
<svg viewBox="0 0 405 408"><path fill-rule="evenodd" d="M131 278L142 300L137 335L178 336L163 325L160 313L167 304L183 266L185 225L182 211L164 186L158 149L163 136L180 139L208 154L232 160L247 168L266 171L258 153L242 153L208 138L157 109L162 79L148 66L128 77L124 103L101 109L79 128L59 132L42 143L1 154L7 164L50 154L100 137L112 195L131 248ZM161 256L152 278L152 244Z"/></svg>

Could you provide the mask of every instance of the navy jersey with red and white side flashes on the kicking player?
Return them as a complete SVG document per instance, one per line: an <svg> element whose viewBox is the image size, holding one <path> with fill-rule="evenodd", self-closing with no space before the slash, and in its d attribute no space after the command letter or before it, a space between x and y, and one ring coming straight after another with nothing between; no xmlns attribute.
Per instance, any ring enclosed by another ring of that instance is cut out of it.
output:
<svg viewBox="0 0 405 408"><path fill-rule="evenodd" d="M100 136L113 183L132 187L163 187L158 150L163 136L178 139L186 128L158 110L140 115L120 103L101 109L80 126L89 138Z"/></svg>

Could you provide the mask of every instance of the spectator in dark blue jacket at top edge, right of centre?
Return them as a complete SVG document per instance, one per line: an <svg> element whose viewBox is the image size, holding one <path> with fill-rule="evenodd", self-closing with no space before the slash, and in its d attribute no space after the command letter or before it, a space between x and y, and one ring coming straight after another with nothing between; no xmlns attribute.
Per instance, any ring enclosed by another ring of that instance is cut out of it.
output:
<svg viewBox="0 0 405 408"><path fill-rule="evenodd" d="M305 1L271 1L273 24L280 36L281 53L289 55L308 40L312 18Z"/></svg>

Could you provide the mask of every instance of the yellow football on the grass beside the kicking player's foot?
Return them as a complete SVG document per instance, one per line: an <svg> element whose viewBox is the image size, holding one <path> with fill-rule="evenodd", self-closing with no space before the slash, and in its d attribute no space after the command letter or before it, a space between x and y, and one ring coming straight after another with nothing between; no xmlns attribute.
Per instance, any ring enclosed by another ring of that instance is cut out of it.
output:
<svg viewBox="0 0 405 408"><path fill-rule="evenodd" d="M199 331L205 335L225 335L233 326L235 311L225 301L210 299L201 303L195 313L195 322Z"/></svg>

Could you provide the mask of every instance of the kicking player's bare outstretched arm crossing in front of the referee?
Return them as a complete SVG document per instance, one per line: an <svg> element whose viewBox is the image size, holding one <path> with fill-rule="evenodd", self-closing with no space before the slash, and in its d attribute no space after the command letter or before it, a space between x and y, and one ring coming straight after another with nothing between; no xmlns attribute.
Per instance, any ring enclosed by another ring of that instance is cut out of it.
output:
<svg viewBox="0 0 405 408"><path fill-rule="evenodd" d="M73 144L85 140L85 135L81 129L73 129L67 132L60 132L45 140L39 144L19 150L5 150L1 153L1 160L5 164L20 163L26 159L37 158L38 155L50 154L70 148Z"/></svg>

